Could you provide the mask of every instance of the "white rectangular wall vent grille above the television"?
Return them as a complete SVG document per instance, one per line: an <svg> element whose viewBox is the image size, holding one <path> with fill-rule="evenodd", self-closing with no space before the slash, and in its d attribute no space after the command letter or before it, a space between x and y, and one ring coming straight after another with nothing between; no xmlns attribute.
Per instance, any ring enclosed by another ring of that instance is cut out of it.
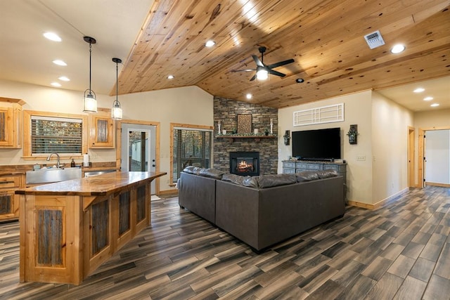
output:
<svg viewBox="0 0 450 300"><path fill-rule="evenodd" d="M293 113L294 126L344 121L344 103L299 110Z"/></svg>

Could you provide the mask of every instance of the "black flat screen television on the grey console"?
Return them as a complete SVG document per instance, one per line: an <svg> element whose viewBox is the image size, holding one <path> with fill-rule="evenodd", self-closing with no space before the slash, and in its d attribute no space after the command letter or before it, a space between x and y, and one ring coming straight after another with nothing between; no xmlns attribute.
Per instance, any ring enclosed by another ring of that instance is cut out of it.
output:
<svg viewBox="0 0 450 300"><path fill-rule="evenodd" d="M340 128L293 131L293 157L302 160L340 159Z"/></svg>

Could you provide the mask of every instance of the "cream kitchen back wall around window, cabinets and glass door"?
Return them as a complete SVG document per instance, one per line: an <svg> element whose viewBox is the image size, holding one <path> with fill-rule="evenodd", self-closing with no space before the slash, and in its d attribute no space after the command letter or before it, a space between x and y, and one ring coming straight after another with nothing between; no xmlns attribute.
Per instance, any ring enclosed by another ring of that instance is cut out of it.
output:
<svg viewBox="0 0 450 300"><path fill-rule="evenodd" d="M81 91L68 91L0 79L0 96L20 98L24 110L82 115ZM111 107L115 96L97 94L98 107ZM213 97L196 86L120 95L124 119L160 122L160 171L170 171L170 123L213 126ZM115 162L115 150L91 150L92 162ZM79 160L81 162L82 159ZM22 150L0 149L0 164L34 164L25 161ZM68 161L69 162L69 161ZM67 163L67 162L65 162ZM160 190L169 190L169 175L160 180Z"/></svg>

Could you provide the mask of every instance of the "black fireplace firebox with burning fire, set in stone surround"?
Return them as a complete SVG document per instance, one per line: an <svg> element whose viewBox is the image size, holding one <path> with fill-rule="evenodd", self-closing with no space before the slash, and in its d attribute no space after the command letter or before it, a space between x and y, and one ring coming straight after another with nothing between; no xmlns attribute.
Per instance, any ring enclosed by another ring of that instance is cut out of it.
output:
<svg viewBox="0 0 450 300"><path fill-rule="evenodd" d="M230 173L244 176L259 175L259 152L230 152Z"/></svg>

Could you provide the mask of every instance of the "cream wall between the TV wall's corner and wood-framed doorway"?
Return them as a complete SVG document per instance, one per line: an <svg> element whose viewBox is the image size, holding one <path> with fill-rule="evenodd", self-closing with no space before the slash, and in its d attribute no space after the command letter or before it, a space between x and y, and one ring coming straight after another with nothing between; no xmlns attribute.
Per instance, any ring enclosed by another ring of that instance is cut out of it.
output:
<svg viewBox="0 0 450 300"><path fill-rule="evenodd" d="M372 93L373 204L408 188L408 128L413 112Z"/></svg>

